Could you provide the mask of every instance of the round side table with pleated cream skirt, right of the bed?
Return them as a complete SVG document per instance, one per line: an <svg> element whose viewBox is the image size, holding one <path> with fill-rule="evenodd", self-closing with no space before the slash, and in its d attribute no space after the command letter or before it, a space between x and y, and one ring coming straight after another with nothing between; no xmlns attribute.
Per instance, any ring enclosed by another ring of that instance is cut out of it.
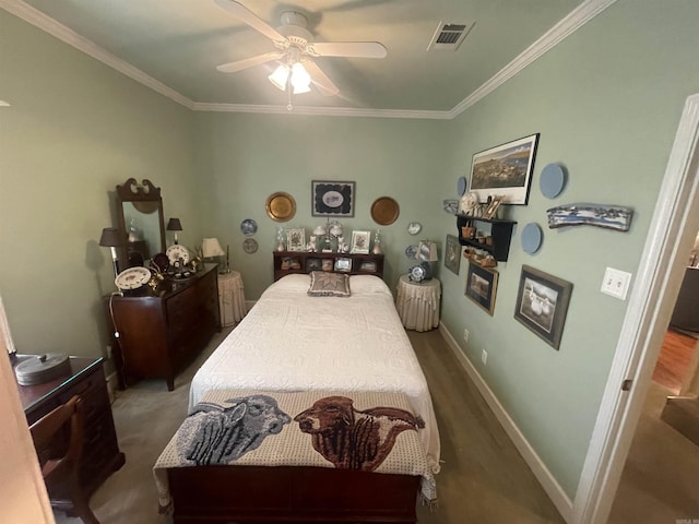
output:
<svg viewBox="0 0 699 524"><path fill-rule="evenodd" d="M441 284L437 278L413 282L402 275L398 283L395 308L407 330L429 331L439 326Z"/></svg>

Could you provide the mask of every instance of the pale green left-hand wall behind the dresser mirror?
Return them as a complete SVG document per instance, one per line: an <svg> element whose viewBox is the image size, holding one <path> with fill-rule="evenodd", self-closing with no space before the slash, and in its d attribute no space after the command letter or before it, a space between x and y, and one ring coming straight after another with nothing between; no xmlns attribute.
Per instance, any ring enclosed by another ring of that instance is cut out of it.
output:
<svg viewBox="0 0 699 524"><path fill-rule="evenodd" d="M19 352L106 353L115 187L162 188L199 237L193 115L0 10L0 290ZM10 44L11 43L11 44Z"/></svg>

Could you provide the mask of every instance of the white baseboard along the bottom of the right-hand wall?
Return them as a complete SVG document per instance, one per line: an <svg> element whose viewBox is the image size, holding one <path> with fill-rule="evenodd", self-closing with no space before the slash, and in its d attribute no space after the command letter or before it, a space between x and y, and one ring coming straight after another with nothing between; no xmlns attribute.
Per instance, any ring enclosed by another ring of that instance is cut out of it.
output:
<svg viewBox="0 0 699 524"><path fill-rule="evenodd" d="M536 454L534 449L530 445L526 438L522 434L520 429L514 424L514 420L508 415L505 410L505 407L498 401L493 390L488 388L488 384L483 380L481 373L478 373L477 369L473 366L469 357L461 350L459 344L457 344L457 340L451 335L449 330L445 327L445 324L439 323L439 332L447 341L449 348L453 352L457 359L463 367L463 369L469 373L469 377L475 383L478 392L485 398L485 402L488 404L488 407L495 414L495 417L498 419L502 429L508 434L508 437L512 440L512 443L517 448L517 450L524 458L524 462L529 465L529 467L534 473L534 476L538 480L538 484L542 485L546 495L550 498L552 502L564 517L566 522L572 521L572 501L562 490L560 485L556 481L556 478L548 471L544 462Z"/></svg>

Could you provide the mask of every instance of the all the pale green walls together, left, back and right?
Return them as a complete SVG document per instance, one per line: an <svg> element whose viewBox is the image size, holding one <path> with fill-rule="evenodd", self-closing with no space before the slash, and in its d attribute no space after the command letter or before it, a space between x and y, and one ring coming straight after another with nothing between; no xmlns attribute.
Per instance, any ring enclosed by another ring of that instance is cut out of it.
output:
<svg viewBox="0 0 699 524"><path fill-rule="evenodd" d="M699 4L619 0L452 121L191 112L0 11L0 290L19 349L97 355L106 343L100 297L114 289L97 241L114 223L114 187L128 177L163 188L165 216L181 218L180 243L204 236L230 246L246 296L272 279L277 224L264 211L275 191L294 195L285 227L322 222L310 213L311 180L357 183L347 230L377 228L371 202L393 196L398 222L381 227L387 279L411 265L406 246L440 245L455 233L441 210L455 196L473 153L541 133L528 206L518 221L493 317L443 270L442 321L572 498L627 302L600 294L604 267L636 273L684 100L699 92ZM5 45L12 41L12 46ZM464 94L465 96L466 94ZM569 174L547 200L538 174ZM629 233L549 230L546 209L571 202L635 209ZM242 252L240 222L253 218L260 249ZM424 225L418 237L408 222ZM542 250L522 252L521 228L544 227ZM573 284L560 350L512 318L522 264ZM481 352L488 352L487 366Z"/></svg>

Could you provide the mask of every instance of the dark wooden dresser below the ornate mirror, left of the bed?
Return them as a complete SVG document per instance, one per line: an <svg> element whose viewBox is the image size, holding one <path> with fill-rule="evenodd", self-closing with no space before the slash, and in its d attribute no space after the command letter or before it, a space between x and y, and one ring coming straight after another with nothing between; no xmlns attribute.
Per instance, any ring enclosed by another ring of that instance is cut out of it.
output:
<svg viewBox="0 0 699 524"><path fill-rule="evenodd" d="M119 386L138 379L175 376L221 331L216 264L188 281L165 281L145 296L106 297L107 321ZM149 288L150 289L150 288Z"/></svg>

